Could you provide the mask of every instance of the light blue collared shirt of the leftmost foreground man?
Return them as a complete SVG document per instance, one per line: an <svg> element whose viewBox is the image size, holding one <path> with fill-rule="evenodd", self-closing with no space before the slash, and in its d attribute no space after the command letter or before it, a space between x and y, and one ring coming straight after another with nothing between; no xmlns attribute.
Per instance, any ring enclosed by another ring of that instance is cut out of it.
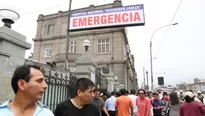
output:
<svg viewBox="0 0 205 116"><path fill-rule="evenodd" d="M15 116L14 113L11 111L9 104L10 100L0 105L0 116ZM48 109L47 106L43 105L42 103L38 102L38 106L34 112L33 116L54 116L53 113Z"/></svg>

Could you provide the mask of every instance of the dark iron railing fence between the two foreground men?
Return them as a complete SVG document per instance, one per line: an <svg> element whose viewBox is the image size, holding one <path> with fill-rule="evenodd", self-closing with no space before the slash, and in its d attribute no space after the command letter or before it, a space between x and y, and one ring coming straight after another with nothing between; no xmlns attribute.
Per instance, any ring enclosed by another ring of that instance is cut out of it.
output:
<svg viewBox="0 0 205 116"><path fill-rule="evenodd" d="M48 75L45 75L44 72L44 76L48 87L41 102L52 111L55 110L58 103L75 96L74 85L77 78L72 74L69 77L57 72L51 75L51 71L49 71Z"/></svg>

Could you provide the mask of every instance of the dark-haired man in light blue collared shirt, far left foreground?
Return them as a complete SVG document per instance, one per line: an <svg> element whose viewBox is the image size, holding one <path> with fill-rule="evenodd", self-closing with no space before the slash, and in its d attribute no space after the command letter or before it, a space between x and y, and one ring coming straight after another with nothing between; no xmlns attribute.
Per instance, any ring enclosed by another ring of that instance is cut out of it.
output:
<svg viewBox="0 0 205 116"><path fill-rule="evenodd" d="M19 66L11 79L14 100L0 106L0 116L54 116L41 100L47 88L40 68L31 65Z"/></svg>

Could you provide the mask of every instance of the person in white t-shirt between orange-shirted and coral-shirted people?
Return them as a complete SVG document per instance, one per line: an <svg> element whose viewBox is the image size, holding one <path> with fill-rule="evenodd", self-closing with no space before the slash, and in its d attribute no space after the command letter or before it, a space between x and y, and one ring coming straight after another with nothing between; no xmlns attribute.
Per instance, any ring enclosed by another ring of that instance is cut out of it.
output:
<svg viewBox="0 0 205 116"><path fill-rule="evenodd" d="M137 105L136 105L137 96L136 96L136 90L132 89L130 91L130 95L128 95L128 97L132 100L132 103L133 103L133 115L137 116Z"/></svg>

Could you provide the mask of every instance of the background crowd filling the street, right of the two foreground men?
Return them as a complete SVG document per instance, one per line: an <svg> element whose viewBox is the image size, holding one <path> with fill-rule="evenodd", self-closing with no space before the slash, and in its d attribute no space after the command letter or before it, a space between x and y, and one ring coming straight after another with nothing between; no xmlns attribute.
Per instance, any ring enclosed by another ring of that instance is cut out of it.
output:
<svg viewBox="0 0 205 116"><path fill-rule="evenodd" d="M111 96L103 93L102 97L98 96L99 93L97 99L105 103L98 107L101 116L205 116L201 91L195 94L192 90L180 90L168 94L163 91L139 89L136 92L132 89L128 92L121 89L120 92L112 92Z"/></svg>

